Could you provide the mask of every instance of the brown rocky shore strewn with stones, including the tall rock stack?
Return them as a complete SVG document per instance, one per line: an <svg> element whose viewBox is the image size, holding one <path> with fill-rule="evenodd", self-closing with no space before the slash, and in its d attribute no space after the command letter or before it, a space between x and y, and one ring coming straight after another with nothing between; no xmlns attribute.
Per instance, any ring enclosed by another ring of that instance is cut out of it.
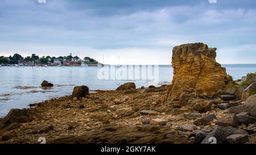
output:
<svg viewBox="0 0 256 155"><path fill-rule="evenodd" d="M13 109L0 143L256 143L256 75L233 81L203 43L174 48L171 85L72 95ZM50 84L44 82L44 85ZM52 83L51 83L51 86Z"/></svg>

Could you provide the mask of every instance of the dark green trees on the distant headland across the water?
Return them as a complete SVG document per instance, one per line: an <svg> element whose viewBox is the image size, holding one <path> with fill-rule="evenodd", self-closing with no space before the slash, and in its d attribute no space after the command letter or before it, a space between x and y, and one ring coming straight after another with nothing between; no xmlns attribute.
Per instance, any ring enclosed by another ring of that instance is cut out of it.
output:
<svg viewBox="0 0 256 155"><path fill-rule="evenodd" d="M39 56L36 56L36 54L32 54L31 56L27 56L24 58L18 53L15 53L13 56L9 56L9 57L0 56L0 64L19 64L20 62L32 62L32 61L39 64L47 64L47 63L53 63L56 58L58 58L61 61L61 64L63 64L64 60L72 61L74 59L76 60L80 59L80 57L78 56L73 57L72 55L59 56L59 57L54 57L54 56L39 57ZM84 60L88 60L89 62L97 62L96 60L90 57L84 57Z"/></svg>

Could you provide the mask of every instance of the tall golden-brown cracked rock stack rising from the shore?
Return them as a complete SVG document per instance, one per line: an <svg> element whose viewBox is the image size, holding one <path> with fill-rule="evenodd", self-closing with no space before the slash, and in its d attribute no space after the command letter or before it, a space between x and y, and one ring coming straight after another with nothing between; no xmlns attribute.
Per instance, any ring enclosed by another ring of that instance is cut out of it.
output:
<svg viewBox="0 0 256 155"><path fill-rule="evenodd" d="M172 51L174 77L166 102L183 106L192 95L224 89L231 77L216 62L216 48L203 43L183 44Z"/></svg>

